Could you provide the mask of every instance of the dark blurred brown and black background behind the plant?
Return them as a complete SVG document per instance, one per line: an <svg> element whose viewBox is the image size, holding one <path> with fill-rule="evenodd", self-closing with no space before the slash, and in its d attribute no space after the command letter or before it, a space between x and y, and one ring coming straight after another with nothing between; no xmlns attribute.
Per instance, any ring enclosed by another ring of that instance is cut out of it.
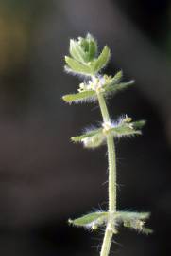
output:
<svg viewBox="0 0 171 256"><path fill-rule="evenodd" d="M111 47L108 74L136 85L109 101L112 117L146 119L144 136L116 141L118 209L151 211L151 236L124 229L111 255L168 255L171 215L171 3L168 0L0 1L0 254L98 255L103 231L67 219L107 209L106 148L69 138L101 120L95 104L66 105L69 39ZM167 254L166 254L167 253Z"/></svg>

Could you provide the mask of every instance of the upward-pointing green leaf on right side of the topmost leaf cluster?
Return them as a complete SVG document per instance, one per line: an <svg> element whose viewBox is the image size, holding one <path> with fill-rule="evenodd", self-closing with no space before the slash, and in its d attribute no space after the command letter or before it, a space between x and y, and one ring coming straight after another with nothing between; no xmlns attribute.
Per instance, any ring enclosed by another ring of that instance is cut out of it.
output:
<svg viewBox="0 0 171 256"><path fill-rule="evenodd" d="M105 46L99 55L99 57L94 61L93 70L94 73L98 73L110 60L111 50L108 46Z"/></svg>

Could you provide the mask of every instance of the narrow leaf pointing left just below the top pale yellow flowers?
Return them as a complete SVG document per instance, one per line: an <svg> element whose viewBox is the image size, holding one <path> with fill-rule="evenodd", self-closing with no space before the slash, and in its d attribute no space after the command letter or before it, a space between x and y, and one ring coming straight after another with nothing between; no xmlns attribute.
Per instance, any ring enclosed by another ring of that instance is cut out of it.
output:
<svg viewBox="0 0 171 256"><path fill-rule="evenodd" d="M68 103L72 102L83 102L83 101L94 101L96 100L95 92L92 90L87 90L84 92L79 92L75 94L67 94L62 97L63 101L66 101Z"/></svg>

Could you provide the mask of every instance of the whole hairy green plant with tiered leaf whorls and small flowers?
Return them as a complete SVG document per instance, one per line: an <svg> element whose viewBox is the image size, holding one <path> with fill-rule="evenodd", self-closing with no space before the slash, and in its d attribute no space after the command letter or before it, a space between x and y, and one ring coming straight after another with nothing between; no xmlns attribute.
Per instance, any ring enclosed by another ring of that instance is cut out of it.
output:
<svg viewBox="0 0 171 256"><path fill-rule="evenodd" d="M68 103L97 102L100 107L102 122L96 128L87 129L84 134L72 137L73 142L81 142L86 148L97 148L107 145L109 163L109 208L106 211L97 210L80 218L69 220L69 223L88 229L105 227L105 235L100 256L108 256L111 248L112 236L118 233L119 226L135 229L144 234L152 232L145 227L149 217L148 212L120 211L116 207L116 153L114 139L117 137L133 137L141 135L141 128L145 120L132 121L127 115L113 121L109 115L106 101L120 90L133 84L122 81L122 71L114 76L103 74L101 70L108 64L111 50L105 46L98 54L97 42L91 34L85 38L78 37L70 40L70 56L65 56L65 70L68 73L83 78L77 93L68 94L62 99Z"/></svg>

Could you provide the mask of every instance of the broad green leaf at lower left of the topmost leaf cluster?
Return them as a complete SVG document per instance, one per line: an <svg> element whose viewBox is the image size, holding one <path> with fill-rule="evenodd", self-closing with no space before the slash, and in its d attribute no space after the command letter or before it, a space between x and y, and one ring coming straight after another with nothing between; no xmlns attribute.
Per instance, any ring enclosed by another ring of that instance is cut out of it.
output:
<svg viewBox="0 0 171 256"><path fill-rule="evenodd" d="M68 72L81 74L84 76L93 75L92 69L88 64L80 64L79 62L68 56L65 56L65 62L68 64L68 66L65 66L65 70Z"/></svg>

